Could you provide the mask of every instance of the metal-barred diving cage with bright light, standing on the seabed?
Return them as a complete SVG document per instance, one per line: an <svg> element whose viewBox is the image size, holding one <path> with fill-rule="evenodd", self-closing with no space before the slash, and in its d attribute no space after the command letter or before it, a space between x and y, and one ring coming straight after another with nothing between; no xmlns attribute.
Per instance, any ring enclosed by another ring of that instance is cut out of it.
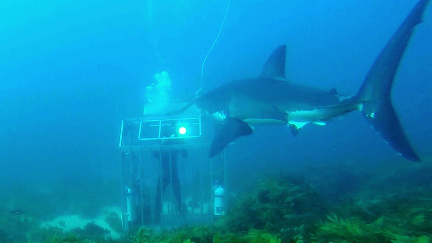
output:
<svg viewBox="0 0 432 243"><path fill-rule="evenodd" d="M195 107L175 117L122 120L123 229L206 224L224 213L224 154L208 158L203 131L210 129Z"/></svg>

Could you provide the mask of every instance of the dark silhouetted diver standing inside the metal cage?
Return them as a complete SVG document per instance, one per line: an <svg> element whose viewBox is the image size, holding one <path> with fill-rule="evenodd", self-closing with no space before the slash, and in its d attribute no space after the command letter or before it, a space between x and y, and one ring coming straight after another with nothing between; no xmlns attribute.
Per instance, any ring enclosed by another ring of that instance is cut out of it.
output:
<svg viewBox="0 0 432 243"><path fill-rule="evenodd" d="M163 126L162 137L170 139L162 139L162 145L182 144L184 142L181 138L173 138L177 136L176 130L175 124ZM154 151L153 156L156 157L160 162L159 178L157 180L156 187L155 222L160 222L163 205L162 199L169 185L171 185L171 190L175 200L177 201L174 213L178 213L184 219L186 208L181 198L181 184L178 177L177 162L179 156L187 158L188 152L185 149L161 148L160 150ZM163 213L171 214L172 212L165 212L164 210Z"/></svg>

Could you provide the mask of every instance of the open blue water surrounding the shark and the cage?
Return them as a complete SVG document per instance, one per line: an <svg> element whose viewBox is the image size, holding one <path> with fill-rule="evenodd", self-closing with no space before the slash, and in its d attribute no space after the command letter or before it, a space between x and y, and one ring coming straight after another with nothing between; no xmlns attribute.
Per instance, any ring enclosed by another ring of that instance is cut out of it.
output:
<svg viewBox="0 0 432 243"><path fill-rule="evenodd" d="M260 74L287 44L287 78L355 94L415 0L232 1L204 68L204 91ZM226 1L8 1L0 8L0 181L118 178L123 118L142 114L144 89L171 75L174 96L199 89L201 64ZM432 7L399 68L393 102L410 141L432 156ZM239 151L242 151L239 155ZM227 148L232 173L338 163L395 169L399 157L359 112L293 137L257 127ZM398 167L398 168L399 168Z"/></svg>

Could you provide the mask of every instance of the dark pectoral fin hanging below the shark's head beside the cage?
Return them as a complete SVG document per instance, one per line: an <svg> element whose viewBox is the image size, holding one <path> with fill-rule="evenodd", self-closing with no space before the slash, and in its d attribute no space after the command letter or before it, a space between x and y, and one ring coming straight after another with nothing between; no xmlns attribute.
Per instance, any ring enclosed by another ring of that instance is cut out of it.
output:
<svg viewBox="0 0 432 243"><path fill-rule="evenodd" d="M250 135L252 132L248 123L235 118L227 118L222 128L214 136L208 156L214 157L238 137Z"/></svg>

